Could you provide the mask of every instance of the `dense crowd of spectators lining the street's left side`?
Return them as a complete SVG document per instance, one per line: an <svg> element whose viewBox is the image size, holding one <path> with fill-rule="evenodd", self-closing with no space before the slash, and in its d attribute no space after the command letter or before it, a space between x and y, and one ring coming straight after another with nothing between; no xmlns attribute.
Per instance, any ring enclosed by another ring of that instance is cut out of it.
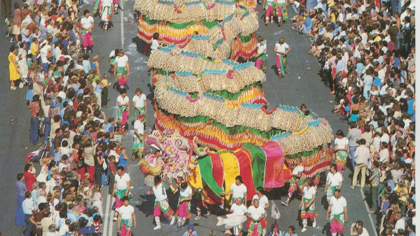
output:
<svg viewBox="0 0 420 236"><path fill-rule="evenodd" d="M94 18L88 10L79 15L81 3L27 1L23 8L16 3L13 12L10 88L16 90L20 80L27 90L30 143L44 143L33 156L39 170L29 161L17 176L15 224L26 236L102 235L101 186L109 185L114 194L115 178L130 180L126 148L113 139L115 118L107 119L102 110L109 76L100 73L98 55L88 54ZM110 58L115 62L110 70L117 68L119 55ZM116 215L126 232L127 213Z"/></svg>

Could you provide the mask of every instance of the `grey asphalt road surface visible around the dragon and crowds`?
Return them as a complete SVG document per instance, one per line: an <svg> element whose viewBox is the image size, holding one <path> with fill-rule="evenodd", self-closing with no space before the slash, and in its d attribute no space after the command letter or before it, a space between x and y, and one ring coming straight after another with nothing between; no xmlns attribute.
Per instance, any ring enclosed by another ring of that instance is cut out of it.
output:
<svg viewBox="0 0 420 236"><path fill-rule="evenodd" d="M12 2L13 5L14 1ZM149 75L147 74L147 56L136 52L136 45L132 43L132 37L136 36L136 24L132 17L133 1L125 2L123 4L124 18L122 16L115 15L113 23L114 27L103 32L98 27L94 29L94 52L91 54L99 55L100 70L104 74L108 71L108 54L115 48L121 48L123 46L126 54L130 59L131 65L131 76L129 78L129 91L128 95L132 98L134 95L135 88L139 87L144 93L148 95L148 124L147 129L154 123L153 107L151 102L151 94L147 84L149 83ZM84 8L93 9L92 1L86 2ZM261 6L258 6L261 10ZM261 16L260 11L260 16ZM291 7L288 8L289 17L294 15ZM99 23L99 19L95 18L95 23ZM287 20L286 24L281 27L277 27L275 24L269 24L264 26L262 20L260 20L260 28L257 31L257 35L262 35L267 40L267 54L268 54L268 68L275 65L275 54L273 52L275 41L279 37L284 37L286 42L291 47L291 52L288 54L288 65L289 70L286 76L279 79L273 70L267 70L267 82L264 84L264 91L266 93L267 100L269 101L270 107L274 107L277 104L286 104L291 106L300 106L305 103L312 112L317 113L320 117L325 117L329 122L334 132L337 129L343 129L344 133L347 131L347 124L339 119L339 116L331 113L331 109L335 103L330 103L333 97L328 94L328 88L326 88L317 73L319 72L320 66L317 60L312 55L306 53L309 49L309 40L307 36L296 35L295 31L290 29L291 20ZM123 34L122 34L123 29ZM6 31L6 25L0 24L0 32ZM29 143L29 128L30 128L30 112L26 106L25 94L26 88L18 89L17 91L9 90L9 79L8 79L8 63L7 54L9 52L10 42L5 39L5 35L1 34L0 44L1 52L0 58L3 58L3 63L0 65L0 73L3 74L3 79L0 81L0 92L3 94L0 97L0 108L2 110L0 114L0 232L5 236L18 236L21 235L22 228L14 225L14 216L16 210L16 191L15 182L16 175L19 172L23 172L24 159L28 152L37 149L38 147L33 146ZM123 44L123 45L122 45ZM115 80L111 80L115 82ZM104 109L107 117L115 116L117 93L115 90L110 89L109 98L111 101L108 103L108 108ZM12 119L14 122L12 122ZM131 127L132 128L132 127ZM131 148L132 145L132 132L129 132L126 136L121 137L123 145L127 148ZM137 216L137 228L134 229L134 235L173 235L180 236L183 231L176 232L174 226L170 226L168 221L163 221L162 229L159 231L153 231L153 198L146 196L148 190L143 183L143 175L140 173L137 164L134 161L129 160L129 171L132 178L132 189L134 200L132 204L136 209ZM347 176L351 172L346 170L344 175L344 184L342 195L347 199L348 212L349 212L349 223L356 220L363 220L365 227L368 229L371 236L374 235L374 230L371 226L368 214L364 207L363 197L359 189L351 190L350 179ZM280 200L285 200L286 192L285 189L272 191L267 194L270 199L274 199L278 205L281 218L278 222L279 227L282 231L286 231L289 225L294 225L297 228L298 235L322 235L323 226L327 223L325 216L325 209L321 205L321 197L323 196L323 188L319 192L315 205L319 217L317 218L318 227L308 227L306 233L300 233L301 228L298 226L298 203L299 200L292 200L288 207L281 206ZM111 198L106 194L104 198L104 211L107 212L111 204ZM108 204L107 204L108 203ZM173 204L172 204L173 203ZM176 202L171 202L172 206L176 206ZM270 212L268 212L270 214ZM112 215L112 214L111 214ZM222 226L215 226L217 219L214 215L210 215L208 218L201 218L195 221L191 218L190 223L196 225L196 230L200 236L209 235L211 230L214 229L214 235L221 236L225 229ZM109 220L110 218L104 218L106 221L104 224L106 228L112 229L106 231L104 235L116 235L115 223ZM268 225L274 222L270 217L268 218ZM184 229L185 230L185 229ZM345 235L348 235L348 227Z"/></svg>

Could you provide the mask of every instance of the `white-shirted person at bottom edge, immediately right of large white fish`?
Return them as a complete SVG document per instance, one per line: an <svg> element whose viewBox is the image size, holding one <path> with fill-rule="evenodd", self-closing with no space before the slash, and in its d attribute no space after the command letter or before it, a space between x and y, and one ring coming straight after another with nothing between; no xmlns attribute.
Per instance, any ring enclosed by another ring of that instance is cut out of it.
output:
<svg viewBox="0 0 420 236"><path fill-rule="evenodd" d="M254 235L254 231L258 232L258 235L262 235L263 229L266 228L267 225L264 224L264 221L261 222L267 215L264 207L260 205L260 201L258 199L252 200L253 204L248 207L247 218L248 223L248 235ZM257 233L256 232L256 233Z"/></svg>

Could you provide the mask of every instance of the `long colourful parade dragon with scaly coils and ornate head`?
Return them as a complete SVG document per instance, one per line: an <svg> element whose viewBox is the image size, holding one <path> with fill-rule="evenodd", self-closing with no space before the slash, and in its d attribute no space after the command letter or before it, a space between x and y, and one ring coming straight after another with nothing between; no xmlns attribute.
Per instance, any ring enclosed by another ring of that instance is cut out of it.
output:
<svg viewBox="0 0 420 236"><path fill-rule="evenodd" d="M241 175L255 189L282 187L300 159L304 177L327 169L333 139L315 113L268 109L266 75L250 60L258 16L252 0L136 0L138 37L165 45L152 52L155 127L146 143L159 151L140 170L187 181L219 198ZM244 62L240 63L238 61Z"/></svg>

